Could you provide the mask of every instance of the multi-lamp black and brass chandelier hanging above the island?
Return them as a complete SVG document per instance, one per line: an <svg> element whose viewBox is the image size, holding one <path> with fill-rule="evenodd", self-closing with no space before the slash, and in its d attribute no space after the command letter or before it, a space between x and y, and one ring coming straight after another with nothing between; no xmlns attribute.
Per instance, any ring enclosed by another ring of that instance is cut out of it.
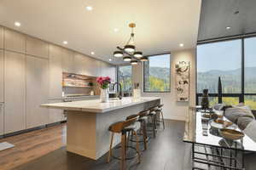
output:
<svg viewBox="0 0 256 170"><path fill-rule="evenodd" d="M131 65L137 65L138 61L145 61L148 60L147 58L143 58L143 52L136 51L136 47L134 45L134 31L133 29L136 27L136 24L131 23L129 24L131 28L131 37L129 38L128 42L125 44L124 48L119 48L119 50L113 52L114 57L123 57L124 54L128 56L123 57L124 61L131 61Z"/></svg>

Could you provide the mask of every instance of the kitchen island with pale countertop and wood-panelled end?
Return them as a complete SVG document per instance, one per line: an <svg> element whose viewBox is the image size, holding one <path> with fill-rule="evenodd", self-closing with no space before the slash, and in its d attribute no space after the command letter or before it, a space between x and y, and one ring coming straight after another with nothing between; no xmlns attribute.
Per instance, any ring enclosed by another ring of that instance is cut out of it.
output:
<svg viewBox="0 0 256 170"><path fill-rule="evenodd" d="M137 114L160 104L160 98L124 98L101 103L100 99L42 104L42 107L61 109L67 112L67 151L98 159L109 150L108 127L124 121L126 116ZM113 147L119 144L119 135Z"/></svg>

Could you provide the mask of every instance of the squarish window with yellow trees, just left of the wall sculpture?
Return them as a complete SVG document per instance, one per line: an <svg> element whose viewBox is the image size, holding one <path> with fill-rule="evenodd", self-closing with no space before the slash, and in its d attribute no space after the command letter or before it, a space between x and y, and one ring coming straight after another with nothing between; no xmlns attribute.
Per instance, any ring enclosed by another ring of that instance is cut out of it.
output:
<svg viewBox="0 0 256 170"><path fill-rule="evenodd" d="M170 54L160 54L148 57L143 64L144 92L170 92Z"/></svg>

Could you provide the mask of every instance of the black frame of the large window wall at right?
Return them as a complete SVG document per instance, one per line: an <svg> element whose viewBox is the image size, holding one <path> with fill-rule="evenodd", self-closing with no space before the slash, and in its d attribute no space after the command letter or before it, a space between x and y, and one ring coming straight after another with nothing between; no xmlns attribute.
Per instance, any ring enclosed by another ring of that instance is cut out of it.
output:
<svg viewBox="0 0 256 170"><path fill-rule="evenodd" d="M238 35L236 37L224 37L223 39L211 39L211 40L205 40L205 41L201 41L201 42L197 42L197 45L201 45L201 44L207 44L207 43L212 43L212 42L227 42L227 41L231 41L231 40L237 40L240 39L241 40L241 93L240 94L222 94L223 97L238 97L239 98L239 102L244 102L244 98L245 96L256 96L256 93L245 93L245 44L244 41L247 38L250 37L256 37L255 34L253 35ZM197 50L196 50L197 52ZM197 93L197 54L195 57L195 70L196 70L196 84L195 84L195 101L196 101L196 105L199 105L199 98L202 96L202 93ZM218 97L218 93L217 94L209 94L209 97ZM218 101L219 102L219 101Z"/></svg>

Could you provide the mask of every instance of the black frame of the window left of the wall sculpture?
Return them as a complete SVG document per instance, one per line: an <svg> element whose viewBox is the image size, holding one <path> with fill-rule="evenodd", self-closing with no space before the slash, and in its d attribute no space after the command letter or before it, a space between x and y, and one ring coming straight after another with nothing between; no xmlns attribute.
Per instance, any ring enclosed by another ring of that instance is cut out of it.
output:
<svg viewBox="0 0 256 170"><path fill-rule="evenodd" d="M170 57L170 75L169 75L169 77L170 77L169 89L170 90L166 90L166 91L146 91L145 90L145 74L144 74L144 70L145 70L144 63L145 62L143 62L143 93L145 93L145 94L164 94L164 93L167 94L167 93L171 93L171 83L172 83L172 79L171 79L171 74L172 74L171 53L168 52L168 53L164 53L164 54L154 54L154 55L148 55L147 57L149 59L150 57L155 57L155 56L158 56L158 55L165 55L165 54L169 54L169 57Z"/></svg>

